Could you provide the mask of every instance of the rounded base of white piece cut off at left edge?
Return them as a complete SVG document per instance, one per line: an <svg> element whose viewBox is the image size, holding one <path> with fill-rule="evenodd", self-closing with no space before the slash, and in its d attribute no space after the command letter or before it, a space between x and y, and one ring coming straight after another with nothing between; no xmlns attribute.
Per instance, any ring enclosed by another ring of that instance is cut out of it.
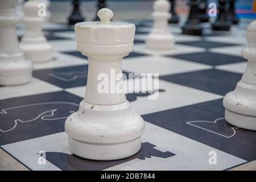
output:
<svg viewBox="0 0 256 182"><path fill-rule="evenodd" d="M22 53L0 55L0 85L26 84L32 78L32 63Z"/></svg>

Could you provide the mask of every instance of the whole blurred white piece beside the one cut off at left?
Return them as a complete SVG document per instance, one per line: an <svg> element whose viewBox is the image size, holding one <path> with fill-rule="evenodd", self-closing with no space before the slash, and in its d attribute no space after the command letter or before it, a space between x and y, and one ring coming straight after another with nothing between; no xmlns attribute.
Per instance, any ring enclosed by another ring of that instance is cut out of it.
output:
<svg viewBox="0 0 256 182"><path fill-rule="evenodd" d="M40 1L35 0L27 1L23 5L23 22L26 25L26 30L20 48L26 59L32 62L52 60L52 46L47 43L42 31L42 23L45 22L45 17L40 15L39 3Z"/></svg>

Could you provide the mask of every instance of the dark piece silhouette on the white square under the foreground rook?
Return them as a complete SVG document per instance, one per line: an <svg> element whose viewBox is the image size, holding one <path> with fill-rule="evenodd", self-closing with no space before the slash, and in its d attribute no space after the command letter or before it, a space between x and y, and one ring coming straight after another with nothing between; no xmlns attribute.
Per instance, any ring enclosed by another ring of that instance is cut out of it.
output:
<svg viewBox="0 0 256 182"><path fill-rule="evenodd" d="M154 147L154 144L148 142L142 143L141 150L137 154L130 156L129 158L119 160L89 160L80 158L73 154L65 154L61 152L46 152L46 159L62 170L91 171L103 170L106 168L117 166L118 164L128 162L133 159L145 160L146 158L151 158L151 156L166 159L175 155L169 151L161 152L159 150L156 150Z"/></svg>

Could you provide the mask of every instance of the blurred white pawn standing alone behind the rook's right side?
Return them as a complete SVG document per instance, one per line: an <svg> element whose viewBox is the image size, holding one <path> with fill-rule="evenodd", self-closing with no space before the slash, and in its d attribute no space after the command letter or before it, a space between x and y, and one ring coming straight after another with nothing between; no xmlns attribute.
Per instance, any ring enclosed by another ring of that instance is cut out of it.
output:
<svg viewBox="0 0 256 182"><path fill-rule="evenodd" d="M156 0L153 5L154 27L147 36L146 47L150 49L172 49L175 46L175 38L169 30L168 20L171 4L167 0Z"/></svg>

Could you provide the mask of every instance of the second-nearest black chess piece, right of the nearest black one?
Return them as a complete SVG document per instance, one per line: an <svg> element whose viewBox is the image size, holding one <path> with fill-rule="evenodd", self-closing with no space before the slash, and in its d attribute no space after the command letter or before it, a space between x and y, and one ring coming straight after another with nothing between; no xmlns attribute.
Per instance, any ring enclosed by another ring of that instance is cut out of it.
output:
<svg viewBox="0 0 256 182"><path fill-rule="evenodd" d="M218 0L218 18L212 24L212 30L229 31L232 22L228 20L226 3L228 0Z"/></svg>

